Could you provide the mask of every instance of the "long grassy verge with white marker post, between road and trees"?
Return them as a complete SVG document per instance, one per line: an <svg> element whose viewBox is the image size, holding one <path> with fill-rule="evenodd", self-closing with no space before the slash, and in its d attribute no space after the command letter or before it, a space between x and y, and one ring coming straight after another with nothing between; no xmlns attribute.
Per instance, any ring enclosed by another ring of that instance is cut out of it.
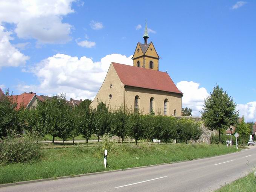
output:
<svg viewBox="0 0 256 192"><path fill-rule="evenodd" d="M0 165L0 184L104 171L103 153L108 149L107 170L125 169L227 154L236 148L224 145L90 143L74 148L42 149L40 161Z"/></svg>

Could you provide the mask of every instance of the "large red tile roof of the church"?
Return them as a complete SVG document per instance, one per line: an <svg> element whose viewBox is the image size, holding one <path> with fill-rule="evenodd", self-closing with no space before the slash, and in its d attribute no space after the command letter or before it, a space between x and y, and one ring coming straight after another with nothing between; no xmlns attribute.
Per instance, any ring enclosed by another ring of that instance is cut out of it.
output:
<svg viewBox="0 0 256 192"><path fill-rule="evenodd" d="M112 62L124 85L181 93L168 73Z"/></svg>

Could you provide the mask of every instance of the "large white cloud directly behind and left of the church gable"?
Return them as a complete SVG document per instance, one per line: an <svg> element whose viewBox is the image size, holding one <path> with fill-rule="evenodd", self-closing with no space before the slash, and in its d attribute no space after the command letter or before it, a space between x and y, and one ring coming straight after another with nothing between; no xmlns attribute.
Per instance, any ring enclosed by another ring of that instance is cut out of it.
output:
<svg viewBox="0 0 256 192"><path fill-rule="evenodd" d="M131 57L111 54L102 58L101 61L93 62L86 56L79 59L56 54L27 70L37 76L40 84L20 83L17 88L21 91L47 95L64 92L67 98L73 99L93 99L104 81L111 61L132 65Z"/></svg>

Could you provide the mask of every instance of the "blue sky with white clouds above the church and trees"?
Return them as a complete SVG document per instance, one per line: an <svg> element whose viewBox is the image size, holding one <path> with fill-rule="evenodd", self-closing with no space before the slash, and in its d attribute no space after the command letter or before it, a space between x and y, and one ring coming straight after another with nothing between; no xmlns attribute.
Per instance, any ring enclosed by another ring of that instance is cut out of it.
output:
<svg viewBox="0 0 256 192"><path fill-rule="evenodd" d="M218 84L256 121L256 1L0 0L0 88L94 99L110 62L132 65L145 20L159 70L200 116Z"/></svg>

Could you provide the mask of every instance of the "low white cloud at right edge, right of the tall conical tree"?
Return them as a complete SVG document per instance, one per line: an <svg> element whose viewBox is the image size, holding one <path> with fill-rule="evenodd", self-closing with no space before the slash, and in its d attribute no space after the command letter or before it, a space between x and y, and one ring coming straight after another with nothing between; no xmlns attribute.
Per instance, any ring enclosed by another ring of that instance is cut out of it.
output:
<svg viewBox="0 0 256 192"><path fill-rule="evenodd" d="M256 101L247 104L237 104L236 110L239 110L240 117L244 116L245 121L256 122Z"/></svg>

